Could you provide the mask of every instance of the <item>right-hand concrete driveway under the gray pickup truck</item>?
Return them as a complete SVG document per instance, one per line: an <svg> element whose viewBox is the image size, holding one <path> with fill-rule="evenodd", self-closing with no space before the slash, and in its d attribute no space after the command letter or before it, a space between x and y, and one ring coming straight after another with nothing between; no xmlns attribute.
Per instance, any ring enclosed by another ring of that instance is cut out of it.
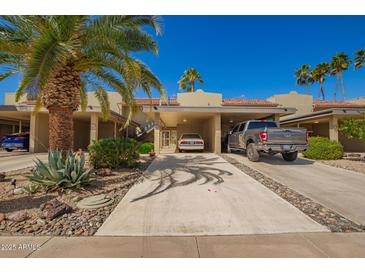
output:
<svg viewBox="0 0 365 274"><path fill-rule="evenodd" d="M277 182L365 225L365 175L308 159L285 162L281 155L264 155L250 162L243 154L226 154Z"/></svg>

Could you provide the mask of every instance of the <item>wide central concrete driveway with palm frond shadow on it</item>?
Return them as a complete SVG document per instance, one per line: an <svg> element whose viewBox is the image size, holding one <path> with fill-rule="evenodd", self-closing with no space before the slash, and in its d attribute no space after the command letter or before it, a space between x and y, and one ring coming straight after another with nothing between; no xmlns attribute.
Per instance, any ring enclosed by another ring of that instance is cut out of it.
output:
<svg viewBox="0 0 365 274"><path fill-rule="evenodd" d="M215 154L158 156L96 235L328 231Z"/></svg>

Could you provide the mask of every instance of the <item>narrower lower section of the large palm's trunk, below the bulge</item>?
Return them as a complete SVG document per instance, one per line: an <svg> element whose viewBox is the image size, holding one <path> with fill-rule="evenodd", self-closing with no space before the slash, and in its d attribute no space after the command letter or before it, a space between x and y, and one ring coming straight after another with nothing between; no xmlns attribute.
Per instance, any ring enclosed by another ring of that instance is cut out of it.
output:
<svg viewBox="0 0 365 274"><path fill-rule="evenodd" d="M73 149L73 109L50 107L48 109L48 138L51 150L70 151Z"/></svg>

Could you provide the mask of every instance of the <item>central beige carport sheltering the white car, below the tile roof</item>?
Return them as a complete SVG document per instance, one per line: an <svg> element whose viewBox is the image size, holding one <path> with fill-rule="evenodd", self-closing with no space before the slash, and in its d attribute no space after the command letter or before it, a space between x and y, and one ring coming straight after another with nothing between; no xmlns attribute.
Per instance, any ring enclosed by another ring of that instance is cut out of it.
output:
<svg viewBox="0 0 365 274"><path fill-rule="evenodd" d="M295 113L294 108L264 106L144 106L143 112L154 119L156 153L173 153L182 133L199 133L206 151L221 153L221 143L233 125L250 119L279 122L280 116Z"/></svg>

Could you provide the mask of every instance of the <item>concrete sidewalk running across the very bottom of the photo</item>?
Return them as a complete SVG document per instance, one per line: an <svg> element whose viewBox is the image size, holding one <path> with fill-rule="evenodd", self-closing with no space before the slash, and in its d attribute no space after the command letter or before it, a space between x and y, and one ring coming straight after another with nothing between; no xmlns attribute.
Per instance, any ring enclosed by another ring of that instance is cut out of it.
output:
<svg viewBox="0 0 365 274"><path fill-rule="evenodd" d="M1 257L365 257L365 233L199 237L0 237Z"/></svg>

